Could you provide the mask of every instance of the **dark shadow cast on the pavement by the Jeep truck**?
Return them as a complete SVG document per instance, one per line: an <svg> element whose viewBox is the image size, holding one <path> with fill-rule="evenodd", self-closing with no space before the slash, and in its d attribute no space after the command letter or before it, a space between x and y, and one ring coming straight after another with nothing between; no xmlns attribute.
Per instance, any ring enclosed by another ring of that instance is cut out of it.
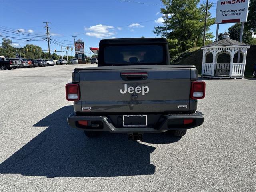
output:
<svg viewBox="0 0 256 192"><path fill-rule="evenodd" d="M154 174L150 154L155 147L129 141L127 134L86 138L82 131L68 126L66 118L71 112L73 106L65 106L33 125L48 128L0 164L0 173L48 178ZM172 143L179 139L145 134L144 142Z"/></svg>

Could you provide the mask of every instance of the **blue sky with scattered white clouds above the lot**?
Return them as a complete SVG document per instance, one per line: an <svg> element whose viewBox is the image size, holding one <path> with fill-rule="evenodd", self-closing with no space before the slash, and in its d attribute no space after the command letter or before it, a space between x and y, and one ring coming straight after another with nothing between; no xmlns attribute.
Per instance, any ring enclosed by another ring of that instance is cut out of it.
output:
<svg viewBox="0 0 256 192"><path fill-rule="evenodd" d="M160 8L164 7L162 2L160 0L129 1L0 0L0 25L19 30L20 33L44 35L46 30L43 22L48 21L51 22L49 24L51 37L59 42L58 44L66 46L72 46L74 41L72 36L83 40L85 47L87 45L98 47L99 41L104 38L156 37L153 33L154 26L163 26L162 13L160 13ZM210 2L217 1L210 0ZM216 8L212 8L210 12L215 17ZM219 32L225 32L231 25L221 24ZM216 25L211 27L211 32L215 35ZM13 44L24 46L28 43L13 40ZM48 49L46 41L33 41L31 44ZM57 44L52 43L50 46L51 50L60 50ZM69 54L74 55L74 51L69 51Z"/></svg>

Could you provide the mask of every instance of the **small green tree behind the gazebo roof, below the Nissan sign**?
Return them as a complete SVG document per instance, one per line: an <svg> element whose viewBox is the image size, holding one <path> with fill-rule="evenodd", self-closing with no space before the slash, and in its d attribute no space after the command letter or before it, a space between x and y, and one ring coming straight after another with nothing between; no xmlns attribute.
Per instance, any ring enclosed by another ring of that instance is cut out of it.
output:
<svg viewBox="0 0 256 192"><path fill-rule="evenodd" d="M240 40L240 31L241 31L240 23L236 23L236 24L232 25L230 28L228 28L228 32L230 33L230 35L229 35L230 39L239 41ZM242 42L250 44L251 40L252 40L252 32L244 30Z"/></svg>

